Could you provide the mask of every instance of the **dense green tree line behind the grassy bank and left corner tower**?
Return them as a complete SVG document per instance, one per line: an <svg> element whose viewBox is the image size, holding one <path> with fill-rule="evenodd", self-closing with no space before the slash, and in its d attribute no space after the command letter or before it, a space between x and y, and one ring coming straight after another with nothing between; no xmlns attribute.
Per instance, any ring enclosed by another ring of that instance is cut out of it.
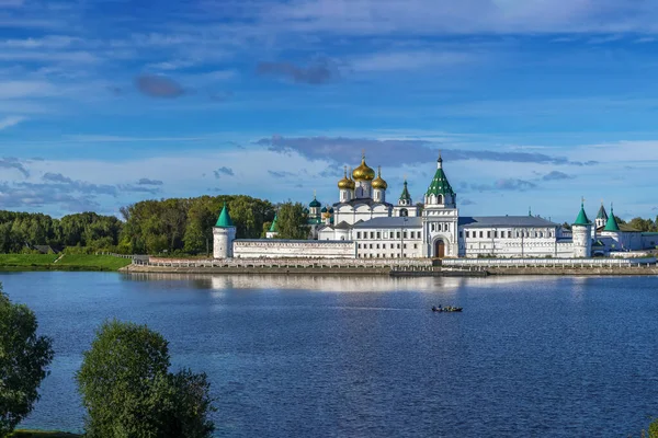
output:
<svg viewBox="0 0 658 438"><path fill-rule="evenodd" d="M0 253L79 247L121 254L207 254L213 227L226 205L237 239L264 238L277 212L279 239L306 239L307 210L299 203L272 204L245 195L143 200L120 209L121 219L95 212L54 219L44 214L0 211Z"/></svg>

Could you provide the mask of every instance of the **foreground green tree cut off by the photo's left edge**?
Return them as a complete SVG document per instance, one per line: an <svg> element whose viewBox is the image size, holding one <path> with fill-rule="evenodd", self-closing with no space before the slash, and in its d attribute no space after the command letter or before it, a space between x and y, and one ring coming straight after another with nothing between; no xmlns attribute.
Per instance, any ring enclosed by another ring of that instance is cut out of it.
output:
<svg viewBox="0 0 658 438"><path fill-rule="evenodd" d="M32 412L38 387L49 373L52 341L36 335L37 325L34 312L12 304L0 286L0 437Z"/></svg>

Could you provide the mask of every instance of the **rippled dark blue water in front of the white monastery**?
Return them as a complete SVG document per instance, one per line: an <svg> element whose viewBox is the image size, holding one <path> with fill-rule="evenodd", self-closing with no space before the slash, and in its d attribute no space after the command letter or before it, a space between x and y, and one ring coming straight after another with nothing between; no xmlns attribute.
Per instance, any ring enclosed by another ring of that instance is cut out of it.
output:
<svg viewBox="0 0 658 438"><path fill-rule="evenodd" d="M81 429L72 377L106 318L147 323L174 367L208 373L217 436L627 437L658 416L658 278L0 281L55 339L24 426Z"/></svg>

